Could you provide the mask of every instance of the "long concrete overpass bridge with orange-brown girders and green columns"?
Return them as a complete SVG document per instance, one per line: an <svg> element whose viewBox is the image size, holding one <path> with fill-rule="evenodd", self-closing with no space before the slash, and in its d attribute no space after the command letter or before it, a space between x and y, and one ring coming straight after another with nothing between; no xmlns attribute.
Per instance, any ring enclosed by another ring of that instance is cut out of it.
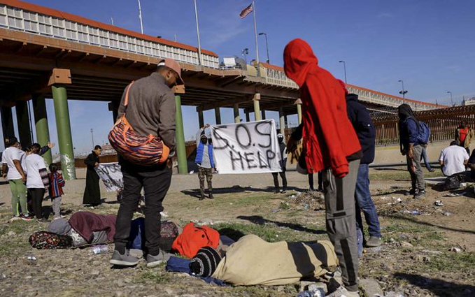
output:
<svg viewBox="0 0 475 297"><path fill-rule="evenodd" d="M66 178L75 178L73 143L69 123L68 99L107 101L114 117L123 89L155 71L160 59L173 58L183 68L185 89L176 89L177 146L180 173L186 173L185 140L181 106L196 106L199 124L203 111L215 110L220 123L220 108L239 109L254 119L265 117L266 110L278 111L281 130L286 116L302 109L297 85L283 68L261 63L245 67L220 66L218 55L182 43L167 41L88 20L59 10L23 1L0 0L0 98L4 136L12 136L15 106L22 145L31 143L27 101L33 100L38 143L45 145L48 132L45 98L55 105L59 152ZM257 69L259 68L259 69ZM409 103L415 110L436 108L434 104L404 100L396 96L348 85L350 92L375 110L393 109ZM51 155L45 157L51 161Z"/></svg>

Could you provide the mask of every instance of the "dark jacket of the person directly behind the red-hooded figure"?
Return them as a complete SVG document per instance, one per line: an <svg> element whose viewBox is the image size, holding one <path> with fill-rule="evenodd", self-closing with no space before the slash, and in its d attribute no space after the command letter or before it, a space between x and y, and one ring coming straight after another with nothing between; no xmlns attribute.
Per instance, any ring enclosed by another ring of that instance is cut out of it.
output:
<svg viewBox="0 0 475 297"><path fill-rule="evenodd" d="M374 161L376 129L368 110L358 101L357 94L346 95L346 110L348 118L360 140L363 157L361 164L370 164Z"/></svg>

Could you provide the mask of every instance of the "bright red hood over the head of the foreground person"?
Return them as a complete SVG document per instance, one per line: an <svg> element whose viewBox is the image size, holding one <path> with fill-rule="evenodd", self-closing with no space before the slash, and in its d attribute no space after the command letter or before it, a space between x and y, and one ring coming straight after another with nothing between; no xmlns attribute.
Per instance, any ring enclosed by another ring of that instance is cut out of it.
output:
<svg viewBox="0 0 475 297"><path fill-rule="evenodd" d="M302 87L306 75L314 67L318 67L318 59L309 43L299 38L290 41L284 50L285 75Z"/></svg>

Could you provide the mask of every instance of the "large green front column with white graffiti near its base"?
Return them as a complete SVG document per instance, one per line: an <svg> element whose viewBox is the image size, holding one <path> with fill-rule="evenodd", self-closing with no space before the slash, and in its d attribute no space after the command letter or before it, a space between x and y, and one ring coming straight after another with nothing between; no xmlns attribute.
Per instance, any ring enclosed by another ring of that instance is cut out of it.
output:
<svg viewBox="0 0 475 297"><path fill-rule="evenodd" d="M52 86L51 89L52 99L55 102L56 129L63 176L66 180L76 180L73 137L71 136L71 123L69 122L69 106L66 88Z"/></svg>

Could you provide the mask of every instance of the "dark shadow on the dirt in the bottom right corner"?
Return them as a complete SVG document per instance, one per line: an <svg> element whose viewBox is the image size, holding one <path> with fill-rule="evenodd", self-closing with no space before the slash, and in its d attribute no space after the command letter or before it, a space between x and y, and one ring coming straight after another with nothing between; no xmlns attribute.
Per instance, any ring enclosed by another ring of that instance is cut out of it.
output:
<svg viewBox="0 0 475 297"><path fill-rule="evenodd" d="M454 284L453 282L410 273L395 273L394 276L400 280L406 280L421 289L429 290L436 296L475 296L475 287L469 284Z"/></svg>

